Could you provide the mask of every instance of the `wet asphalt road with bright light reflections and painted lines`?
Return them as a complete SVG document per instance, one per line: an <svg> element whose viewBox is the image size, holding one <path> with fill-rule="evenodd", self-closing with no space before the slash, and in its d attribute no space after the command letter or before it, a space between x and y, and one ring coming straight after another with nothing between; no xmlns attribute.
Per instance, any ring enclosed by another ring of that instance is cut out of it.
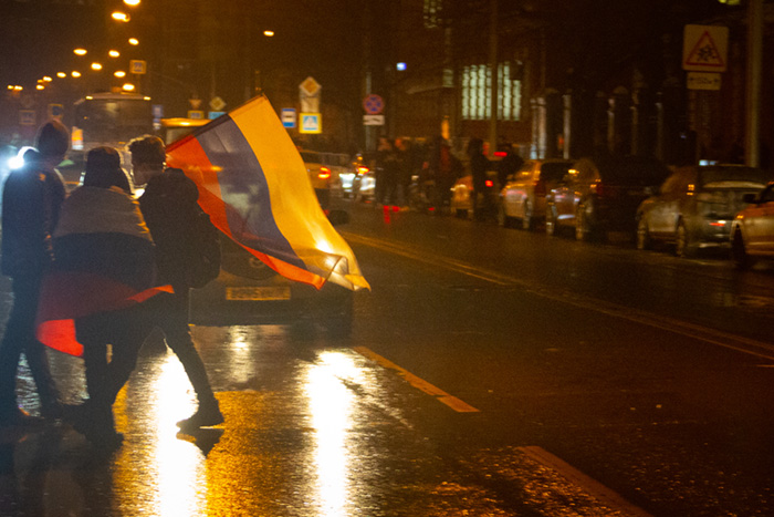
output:
<svg viewBox="0 0 774 517"><path fill-rule="evenodd" d="M373 291L351 338L196 327L226 424L195 436L147 343L116 453L66 425L2 436L1 515L774 514L771 268L352 213ZM80 360L51 358L85 396ZM30 391L22 372L35 412Z"/></svg>

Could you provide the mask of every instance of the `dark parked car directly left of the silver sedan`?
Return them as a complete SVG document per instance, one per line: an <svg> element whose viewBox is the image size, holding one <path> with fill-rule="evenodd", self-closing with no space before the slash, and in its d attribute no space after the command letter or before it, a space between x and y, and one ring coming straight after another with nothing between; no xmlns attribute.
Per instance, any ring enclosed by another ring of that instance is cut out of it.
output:
<svg viewBox="0 0 774 517"><path fill-rule="evenodd" d="M551 189L545 230L554 235L571 228L578 240L604 237L608 230L634 235L637 207L669 174L669 168L656 158L582 158Z"/></svg>

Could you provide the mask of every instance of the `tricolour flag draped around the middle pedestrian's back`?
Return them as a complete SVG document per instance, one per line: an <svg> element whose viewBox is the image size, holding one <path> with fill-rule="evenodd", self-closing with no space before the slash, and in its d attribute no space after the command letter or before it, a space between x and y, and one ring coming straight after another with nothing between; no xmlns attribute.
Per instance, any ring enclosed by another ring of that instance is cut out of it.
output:
<svg viewBox="0 0 774 517"><path fill-rule="evenodd" d="M137 201L118 187L79 187L62 205L56 260L41 282L38 339L82 355L76 321L128 309L170 286L153 287L155 256Z"/></svg>

